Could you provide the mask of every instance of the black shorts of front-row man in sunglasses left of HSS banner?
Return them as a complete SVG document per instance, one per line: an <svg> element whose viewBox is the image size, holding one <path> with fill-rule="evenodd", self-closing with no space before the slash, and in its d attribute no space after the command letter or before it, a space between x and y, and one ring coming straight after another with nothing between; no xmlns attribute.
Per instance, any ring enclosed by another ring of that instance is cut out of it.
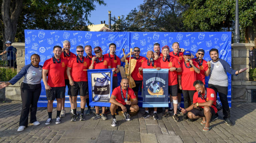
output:
<svg viewBox="0 0 256 143"><path fill-rule="evenodd" d="M89 94L88 90L88 81L79 81L75 82L74 85L68 88L69 92L67 93L70 96L77 96L78 92L80 96L86 96Z"/></svg>

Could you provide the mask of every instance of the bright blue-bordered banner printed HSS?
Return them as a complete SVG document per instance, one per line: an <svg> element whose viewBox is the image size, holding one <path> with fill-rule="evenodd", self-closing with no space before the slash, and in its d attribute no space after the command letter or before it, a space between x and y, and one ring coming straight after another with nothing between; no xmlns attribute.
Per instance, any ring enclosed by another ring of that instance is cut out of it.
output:
<svg viewBox="0 0 256 143"><path fill-rule="evenodd" d="M110 107L112 73L112 69L87 70L90 106Z"/></svg>

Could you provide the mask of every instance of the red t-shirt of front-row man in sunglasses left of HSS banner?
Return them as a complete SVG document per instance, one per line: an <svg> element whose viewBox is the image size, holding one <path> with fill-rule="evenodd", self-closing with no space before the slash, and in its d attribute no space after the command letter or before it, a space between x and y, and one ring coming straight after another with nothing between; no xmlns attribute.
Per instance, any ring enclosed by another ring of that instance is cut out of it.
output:
<svg viewBox="0 0 256 143"><path fill-rule="evenodd" d="M80 58L80 60L82 61L82 58ZM86 59L85 57L83 57L83 63L80 63L79 60L77 63L76 57L73 57L68 61L67 66L71 68L70 73L73 81L75 82L88 81L87 71L83 71L83 70L89 68L90 66L89 59Z"/></svg>

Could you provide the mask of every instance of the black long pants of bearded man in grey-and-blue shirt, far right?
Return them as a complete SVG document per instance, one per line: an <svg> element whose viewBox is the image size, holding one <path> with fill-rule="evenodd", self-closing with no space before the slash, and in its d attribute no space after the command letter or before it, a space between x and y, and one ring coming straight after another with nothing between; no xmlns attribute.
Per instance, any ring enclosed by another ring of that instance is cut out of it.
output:
<svg viewBox="0 0 256 143"><path fill-rule="evenodd" d="M208 84L208 88L211 88L215 91L216 99L217 99L217 93L219 93L220 102L222 104L222 110L224 115L223 119L229 118L230 110L228 105L228 87ZM218 114L216 113L216 115Z"/></svg>

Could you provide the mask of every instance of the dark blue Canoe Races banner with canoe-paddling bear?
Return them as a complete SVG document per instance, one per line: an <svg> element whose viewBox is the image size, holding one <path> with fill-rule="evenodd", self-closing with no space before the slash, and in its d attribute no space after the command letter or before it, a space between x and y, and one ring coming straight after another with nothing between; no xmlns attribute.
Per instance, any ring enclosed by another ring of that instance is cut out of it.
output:
<svg viewBox="0 0 256 143"><path fill-rule="evenodd" d="M142 107L168 107L169 69L143 69Z"/></svg>

